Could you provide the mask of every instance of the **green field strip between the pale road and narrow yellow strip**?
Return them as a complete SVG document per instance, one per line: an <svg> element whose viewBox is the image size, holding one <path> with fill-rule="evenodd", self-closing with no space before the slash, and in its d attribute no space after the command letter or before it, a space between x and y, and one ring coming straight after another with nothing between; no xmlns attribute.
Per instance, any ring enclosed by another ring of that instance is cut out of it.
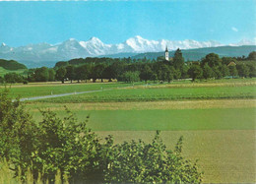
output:
<svg viewBox="0 0 256 184"><path fill-rule="evenodd" d="M188 87L188 88L145 88L122 89L75 96L42 99L45 102L98 102L98 101L156 101L180 99L254 98L255 87Z"/></svg>

